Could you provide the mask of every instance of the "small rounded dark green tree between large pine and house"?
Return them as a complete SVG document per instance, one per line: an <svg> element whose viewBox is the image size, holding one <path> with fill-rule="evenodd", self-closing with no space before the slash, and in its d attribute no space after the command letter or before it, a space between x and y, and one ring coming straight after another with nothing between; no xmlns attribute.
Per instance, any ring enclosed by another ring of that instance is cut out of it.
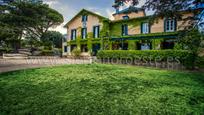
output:
<svg viewBox="0 0 204 115"><path fill-rule="evenodd" d="M61 48L63 39L64 36L60 32L48 31L42 35L41 42L47 47Z"/></svg>

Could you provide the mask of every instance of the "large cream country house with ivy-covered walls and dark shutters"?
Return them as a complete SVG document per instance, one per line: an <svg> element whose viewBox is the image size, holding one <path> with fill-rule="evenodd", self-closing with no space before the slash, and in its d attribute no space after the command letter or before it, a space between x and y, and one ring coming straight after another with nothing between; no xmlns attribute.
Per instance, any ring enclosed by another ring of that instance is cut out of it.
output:
<svg viewBox="0 0 204 115"><path fill-rule="evenodd" d="M183 17L193 14L181 12ZM130 6L116 9L114 20L82 9L64 27L67 39L63 55L70 55L75 48L96 55L98 50L158 50L173 49L178 31L188 25L175 18L161 18L152 22L145 10Z"/></svg>

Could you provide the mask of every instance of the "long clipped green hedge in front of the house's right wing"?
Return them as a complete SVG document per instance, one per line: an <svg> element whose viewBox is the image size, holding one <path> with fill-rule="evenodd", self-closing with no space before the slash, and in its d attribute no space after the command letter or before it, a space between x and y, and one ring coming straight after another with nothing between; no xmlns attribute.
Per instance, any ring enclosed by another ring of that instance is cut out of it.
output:
<svg viewBox="0 0 204 115"><path fill-rule="evenodd" d="M98 59L140 59L141 61L179 61L186 67L191 67L194 55L186 50L101 50Z"/></svg>

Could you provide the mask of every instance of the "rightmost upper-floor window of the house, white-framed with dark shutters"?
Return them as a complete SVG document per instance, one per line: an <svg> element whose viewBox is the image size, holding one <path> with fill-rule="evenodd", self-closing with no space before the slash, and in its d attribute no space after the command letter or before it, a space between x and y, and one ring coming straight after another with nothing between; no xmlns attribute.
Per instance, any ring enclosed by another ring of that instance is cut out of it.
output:
<svg viewBox="0 0 204 115"><path fill-rule="evenodd" d="M165 29L165 32L174 32L174 31L176 31L176 20L175 19L165 20L164 29Z"/></svg>

